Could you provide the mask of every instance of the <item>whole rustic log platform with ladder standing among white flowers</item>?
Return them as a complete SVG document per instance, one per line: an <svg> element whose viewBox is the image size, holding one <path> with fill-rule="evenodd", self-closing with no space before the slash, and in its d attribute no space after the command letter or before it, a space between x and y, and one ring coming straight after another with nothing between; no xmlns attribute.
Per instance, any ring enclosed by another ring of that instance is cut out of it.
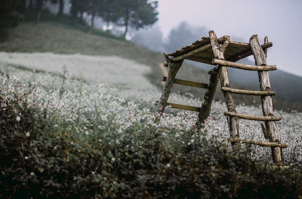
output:
<svg viewBox="0 0 302 199"><path fill-rule="evenodd" d="M227 106L227 111L224 112L224 115L228 116L227 120L230 131L230 138L228 139L228 141L231 142L232 145L238 147L240 147L241 143L271 147L274 163L276 165L284 165L282 147L287 147L288 145L280 143L281 139L275 121L281 120L282 117L275 117L273 114L271 96L275 95L276 93L274 91L271 91L269 76L267 72L276 70L277 68L276 65L266 65L267 48L271 46L272 43L268 42L267 37L265 37L264 44L260 45L257 35L253 35L250 38L249 43L244 43L231 41L230 36L223 36L217 39L215 32L210 31L209 37L203 37L200 40L195 41L192 45L185 46L173 53L164 53L166 59L164 65L168 67L168 76L163 77L162 81L165 82L164 89L159 101L155 102L155 105L157 105L156 112L159 113L158 120L160 119L160 115L164 111L165 107L167 105L170 105L172 108L199 112L195 128L202 128L204 120L210 115L211 104L215 95L218 81L220 79L221 91L223 92ZM250 55L254 55L256 63L255 65L235 63L236 61ZM207 84L175 78L177 71L180 69L182 62L185 59L215 65L213 69L208 71L208 73L210 74L210 79ZM260 91L245 91L231 88L227 74L227 67L249 71L258 71ZM206 89L201 107L168 103L167 101L173 83ZM261 96L263 116L237 113L232 93ZM262 131L265 138L269 139L270 142L241 139L239 136L239 118L264 121L265 126L261 124Z"/></svg>

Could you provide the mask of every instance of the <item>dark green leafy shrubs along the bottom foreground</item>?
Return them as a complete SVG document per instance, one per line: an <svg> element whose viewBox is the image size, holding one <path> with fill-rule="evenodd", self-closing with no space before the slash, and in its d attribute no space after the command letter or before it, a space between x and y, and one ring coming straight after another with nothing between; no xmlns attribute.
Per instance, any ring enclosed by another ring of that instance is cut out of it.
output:
<svg viewBox="0 0 302 199"><path fill-rule="evenodd" d="M51 127L41 111L20 105L2 110L0 125L0 198L302 195L300 172L260 165L215 138L135 129L75 134L60 124Z"/></svg>

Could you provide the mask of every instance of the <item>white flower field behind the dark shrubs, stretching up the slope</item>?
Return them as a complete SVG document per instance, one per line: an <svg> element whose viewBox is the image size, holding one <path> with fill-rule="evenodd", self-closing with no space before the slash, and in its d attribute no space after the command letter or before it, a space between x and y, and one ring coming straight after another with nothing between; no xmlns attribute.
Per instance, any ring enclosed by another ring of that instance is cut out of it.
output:
<svg viewBox="0 0 302 199"><path fill-rule="evenodd" d="M13 98L16 94L24 95L34 89L35 92L27 96L29 106L37 106L48 115L55 116L53 125L59 121L64 121L70 128L76 125L77 133L89 134L95 128L123 132L131 126L137 129L156 128L180 132L192 128L196 120L197 114L194 112L167 108L166 112L170 114L164 113L160 123L154 124L153 103L159 99L161 92L144 78L148 66L131 60L80 54L4 52L0 53L0 59L3 96ZM24 65L32 71L20 69L16 65ZM64 65L66 72L63 83L58 74L62 74ZM69 72L78 79L70 78ZM8 80L5 74L9 74ZM79 81L80 77L84 82ZM201 104L200 99L194 98L190 93L185 96L172 93L169 101L193 106ZM260 105L238 105L236 108L238 113L262 115ZM228 137L224 111L224 102L213 102L210 118L204 128L208 136L213 135L221 142L226 142ZM297 166L301 167L302 113L275 111L274 114L283 116L283 119L277 122L277 127L282 143L289 144L288 148L283 149L287 165L298 164ZM95 124L98 125L94 126ZM257 121L240 120L240 136L266 141ZM271 160L268 147L252 145L251 156Z"/></svg>

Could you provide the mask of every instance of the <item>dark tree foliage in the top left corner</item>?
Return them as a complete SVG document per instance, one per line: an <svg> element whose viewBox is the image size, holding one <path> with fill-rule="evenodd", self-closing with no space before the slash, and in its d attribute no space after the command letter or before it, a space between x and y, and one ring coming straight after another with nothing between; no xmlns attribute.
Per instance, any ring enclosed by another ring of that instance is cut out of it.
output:
<svg viewBox="0 0 302 199"><path fill-rule="evenodd" d="M0 38L10 27L17 26L23 16L18 13L20 0L2 1L0 6Z"/></svg>

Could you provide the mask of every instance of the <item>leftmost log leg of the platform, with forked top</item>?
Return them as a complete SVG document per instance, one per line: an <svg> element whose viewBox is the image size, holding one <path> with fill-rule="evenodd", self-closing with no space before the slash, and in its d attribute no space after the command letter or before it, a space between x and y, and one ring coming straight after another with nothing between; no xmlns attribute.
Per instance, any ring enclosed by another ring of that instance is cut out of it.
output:
<svg viewBox="0 0 302 199"><path fill-rule="evenodd" d="M159 99L157 109L155 111L156 114L159 114L157 119L160 118L160 115L165 110L165 107L166 107L166 104L168 102L168 98L169 98L169 95L170 95L170 92L171 92L171 88L172 88L173 82L175 80L175 76L177 74L177 71L182 66L182 62L183 62L183 60L180 60L180 61L176 61L176 62L172 63L169 56L166 55L166 53L164 53L164 56L166 58L167 65L168 65L168 76L167 76L167 79L165 81L164 89L163 89L163 92L162 92L161 97Z"/></svg>

